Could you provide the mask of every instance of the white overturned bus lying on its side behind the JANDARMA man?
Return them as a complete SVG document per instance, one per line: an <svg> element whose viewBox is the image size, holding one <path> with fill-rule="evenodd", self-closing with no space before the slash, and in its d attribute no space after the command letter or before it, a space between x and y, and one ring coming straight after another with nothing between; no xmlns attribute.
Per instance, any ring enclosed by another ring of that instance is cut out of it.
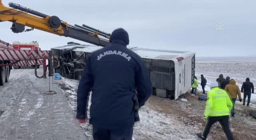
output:
<svg viewBox="0 0 256 140"><path fill-rule="evenodd" d="M102 47L71 44L52 48L55 72L80 80L86 59ZM138 54L150 73L153 94L177 99L190 90L194 82L195 53L185 51L130 48Z"/></svg>

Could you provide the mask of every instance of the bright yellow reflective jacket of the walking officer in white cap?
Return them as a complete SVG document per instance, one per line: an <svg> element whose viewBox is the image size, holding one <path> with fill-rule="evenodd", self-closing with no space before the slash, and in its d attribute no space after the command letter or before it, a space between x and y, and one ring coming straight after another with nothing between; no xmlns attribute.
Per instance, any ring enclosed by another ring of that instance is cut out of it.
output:
<svg viewBox="0 0 256 140"><path fill-rule="evenodd" d="M230 115L230 110L233 107L233 103L230 100L227 92L218 87L212 88L208 92L206 107L204 110L204 117L208 118L210 116L228 116Z"/></svg>

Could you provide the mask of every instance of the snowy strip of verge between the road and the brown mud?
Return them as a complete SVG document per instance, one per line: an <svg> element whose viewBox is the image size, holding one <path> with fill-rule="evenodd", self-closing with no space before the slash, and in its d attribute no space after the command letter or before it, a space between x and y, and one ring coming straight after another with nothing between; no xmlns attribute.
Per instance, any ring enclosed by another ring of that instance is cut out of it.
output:
<svg viewBox="0 0 256 140"><path fill-rule="evenodd" d="M59 83L70 107L75 112L78 81L62 78L56 82ZM136 122L134 126L134 140L197 140L195 136L198 132L197 127L182 124L174 116L152 109L151 105L146 104L140 109L140 122ZM89 109L90 103L88 114ZM92 126L88 123L81 126L88 140L92 140Z"/></svg>

